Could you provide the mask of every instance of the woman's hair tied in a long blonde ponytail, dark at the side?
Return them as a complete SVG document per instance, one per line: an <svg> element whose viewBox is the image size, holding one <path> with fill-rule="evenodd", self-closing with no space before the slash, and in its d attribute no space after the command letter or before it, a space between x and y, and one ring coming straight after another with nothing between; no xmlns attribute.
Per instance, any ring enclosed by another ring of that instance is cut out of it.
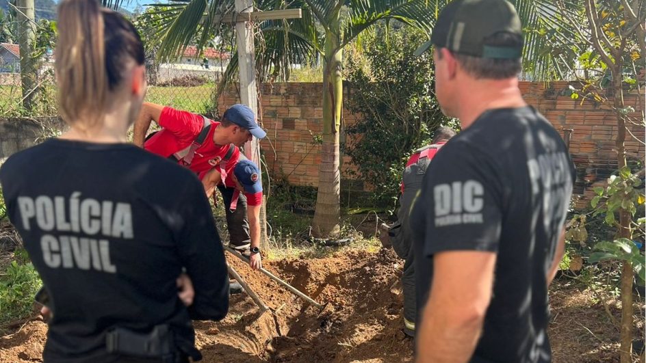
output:
<svg viewBox="0 0 646 363"><path fill-rule="evenodd" d="M92 129L103 120L109 96L134 60L144 64L137 30L99 0L64 0L58 6L55 51L60 114L71 126ZM108 52L108 53L106 53Z"/></svg>

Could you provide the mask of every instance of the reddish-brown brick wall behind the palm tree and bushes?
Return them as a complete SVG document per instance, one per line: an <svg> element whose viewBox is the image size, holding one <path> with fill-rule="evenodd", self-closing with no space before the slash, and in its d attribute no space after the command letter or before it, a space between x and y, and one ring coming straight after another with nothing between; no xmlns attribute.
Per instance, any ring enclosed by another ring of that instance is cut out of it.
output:
<svg viewBox="0 0 646 363"><path fill-rule="evenodd" d="M568 85L567 82L521 82L520 88L527 102L543 113L561 135L564 135L564 129L572 130L570 152L578 170L575 192L585 191L589 197L591 187L602 183L617 168L614 151L617 121L608 105L595 105L588 100L582 103L581 99L561 96ZM293 185L317 186L320 146L313 142L312 135L322 133L322 84L264 84L261 94L261 118L268 131L268 137L261 146L270 174L274 178L285 177ZM220 98L220 113L227 105L238 102L237 92L231 88ZM644 94L627 93L625 103L634 107L635 112L631 116L640 120L645 110ZM344 110L346 124L352 124L358 117ZM631 125L630 131L644 140L643 126ZM630 134L627 136L629 157L644 159L643 144L632 139ZM350 158L344 156L341 161L342 179L351 178L348 170L355 168ZM361 189L362 183L355 183L352 187Z"/></svg>

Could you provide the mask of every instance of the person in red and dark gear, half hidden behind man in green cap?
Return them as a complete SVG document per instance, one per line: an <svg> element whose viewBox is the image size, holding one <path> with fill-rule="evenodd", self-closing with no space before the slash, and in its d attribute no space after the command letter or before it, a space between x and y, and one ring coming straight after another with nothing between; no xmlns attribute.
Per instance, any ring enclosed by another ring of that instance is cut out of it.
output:
<svg viewBox="0 0 646 363"><path fill-rule="evenodd" d="M415 150L406 167L402 177L402 195L400 196L400 209L397 213L397 221L392 226L382 224L381 233L387 233L393 250L405 260L402 273L402 286L404 291L404 333L408 336L415 334L415 269L413 256L413 236L409 225L411 205L415 195L422 188L422 180L426 174L426 168L440 148L455 136L455 131L450 127L441 126L435 131L432 144Z"/></svg>

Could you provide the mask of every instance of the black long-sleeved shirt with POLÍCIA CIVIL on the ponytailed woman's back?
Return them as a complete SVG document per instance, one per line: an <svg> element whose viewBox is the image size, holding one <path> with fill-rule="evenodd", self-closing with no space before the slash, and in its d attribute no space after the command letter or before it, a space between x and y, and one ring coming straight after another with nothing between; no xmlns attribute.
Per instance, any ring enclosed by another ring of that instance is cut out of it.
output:
<svg viewBox="0 0 646 363"><path fill-rule="evenodd" d="M50 139L0 169L8 214L51 297L46 362L114 362L105 332L170 324L193 349L193 319L222 319L229 278L203 187L130 144ZM195 298L175 280L185 267Z"/></svg>

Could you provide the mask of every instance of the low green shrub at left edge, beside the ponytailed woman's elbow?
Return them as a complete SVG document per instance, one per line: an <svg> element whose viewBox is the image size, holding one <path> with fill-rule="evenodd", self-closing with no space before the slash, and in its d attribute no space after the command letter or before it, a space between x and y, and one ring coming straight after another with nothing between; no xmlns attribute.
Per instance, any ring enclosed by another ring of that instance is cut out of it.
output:
<svg viewBox="0 0 646 363"><path fill-rule="evenodd" d="M41 286L34 265L13 260L0 274L0 327L29 317Z"/></svg>

